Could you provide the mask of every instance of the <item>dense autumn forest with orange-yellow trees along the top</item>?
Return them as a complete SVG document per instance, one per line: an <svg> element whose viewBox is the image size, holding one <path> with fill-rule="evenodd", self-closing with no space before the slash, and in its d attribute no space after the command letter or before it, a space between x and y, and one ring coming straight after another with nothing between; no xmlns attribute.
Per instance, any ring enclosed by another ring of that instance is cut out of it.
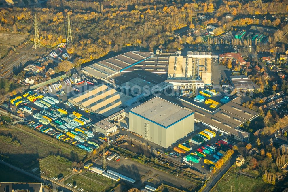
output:
<svg viewBox="0 0 288 192"><path fill-rule="evenodd" d="M73 46L69 53L78 59L74 65L119 51L123 46L141 45L152 50L160 44L168 51L181 49L181 41L174 39L173 31L185 26L204 28L208 24L219 26L221 34L231 26L247 24L280 25L275 21L251 19L261 14L285 13L287 1L164 1L164 0L105 0L65 1L48 0L47 8L6 8L0 10L0 31L29 33L33 40L33 14L39 22L41 44L55 47L66 41L67 14L70 14ZM198 22L198 13L210 14L205 22ZM226 21L230 13L235 18ZM196 19L194 19L196 18ZM283 27L283 26L282 26ZM193 43L197 39L188 39ZM198 39L199 41L199 39Z"/></svg>

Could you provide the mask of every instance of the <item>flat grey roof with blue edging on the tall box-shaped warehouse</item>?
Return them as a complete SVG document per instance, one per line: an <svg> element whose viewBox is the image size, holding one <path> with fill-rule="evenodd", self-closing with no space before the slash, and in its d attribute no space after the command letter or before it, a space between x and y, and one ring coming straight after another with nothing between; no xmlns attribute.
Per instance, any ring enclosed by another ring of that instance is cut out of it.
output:
<svg viewBox="0 0 288 192"><path fill-rule="evenodd" d="M192 111L177 106L160 97L154 97L153 99L133 108L129 112L165 128L168 128L181 119L194 114Z"/></svg>

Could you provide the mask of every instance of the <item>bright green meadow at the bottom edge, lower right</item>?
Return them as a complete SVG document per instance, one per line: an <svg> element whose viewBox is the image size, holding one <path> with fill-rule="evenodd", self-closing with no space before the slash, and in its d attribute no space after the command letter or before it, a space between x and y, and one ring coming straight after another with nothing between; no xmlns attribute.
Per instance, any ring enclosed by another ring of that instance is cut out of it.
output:
<svg viewBox="0 0 288 192"><path fill-rule="evenodd" d="M214 186L210 192L254 192L262 191L262 189L269 188L271 185L264 183L261 178L252 179L238 174L240 168L233 167L226 173L226 175Z"/></svg>

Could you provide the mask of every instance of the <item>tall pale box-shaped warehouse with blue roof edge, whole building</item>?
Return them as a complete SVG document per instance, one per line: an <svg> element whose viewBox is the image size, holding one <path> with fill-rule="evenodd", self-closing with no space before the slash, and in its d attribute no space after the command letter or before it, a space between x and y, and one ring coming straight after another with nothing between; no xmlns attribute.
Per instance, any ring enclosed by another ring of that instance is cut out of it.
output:
<svg viewBox="0 0 288 192"><path fill-rule="evenodd" d="M167 148L194 131L194 113L154 97L129 111L129 130Z"/></svg>

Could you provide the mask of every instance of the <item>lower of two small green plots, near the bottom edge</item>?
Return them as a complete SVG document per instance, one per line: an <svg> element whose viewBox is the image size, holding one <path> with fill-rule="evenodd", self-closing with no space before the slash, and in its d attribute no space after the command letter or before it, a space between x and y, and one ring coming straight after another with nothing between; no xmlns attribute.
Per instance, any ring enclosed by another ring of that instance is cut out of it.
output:
<svg viewBox="0 0 288 192"><path fill-rule="evenodd" d="M67 183L73 184L73 182L76 182L77 188L82 187L85 191L92 191L92 192L98 192L98 191L104 191L107 186L101 185L93 180L87 179L82 175L72 175L69 179L64 181L64 184Z"/></svg>

